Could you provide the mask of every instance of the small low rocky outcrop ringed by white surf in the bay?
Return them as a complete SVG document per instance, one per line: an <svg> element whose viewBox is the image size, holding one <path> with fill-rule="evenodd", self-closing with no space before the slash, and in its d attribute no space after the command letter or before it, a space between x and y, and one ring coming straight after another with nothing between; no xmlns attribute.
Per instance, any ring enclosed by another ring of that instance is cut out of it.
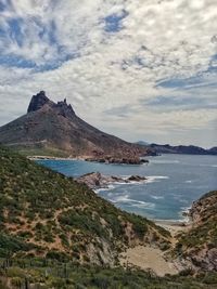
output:
<svg viewBox="0 0 217 289"><path fill-rule="evenodd" d="M114 175L104 175L100 172L91 172L84 174L76 180L78 183L86 184L90 188L97 189L97 188L106 188L108 185L114 183L132 183L132 182L144 182L146 181L145 176L140 175L131 175L127 179L120 178L120 176L114 176Z"/></svg>

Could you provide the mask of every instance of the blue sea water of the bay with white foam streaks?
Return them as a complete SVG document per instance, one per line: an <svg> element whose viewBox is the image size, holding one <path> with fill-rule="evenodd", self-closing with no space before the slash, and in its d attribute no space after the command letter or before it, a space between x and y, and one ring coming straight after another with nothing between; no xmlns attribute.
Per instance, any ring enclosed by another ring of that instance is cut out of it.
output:
<svg viewBox="0 0 217 289"><path fill-rule="evenodd" d="M162 155L149 165L105 165L79 160L39 160L65 175L88 172L148 176L139 184L116 184L97 193L115 206L155 220L183 220L182 212L204 193L217 189L217 156Z"/></svg>

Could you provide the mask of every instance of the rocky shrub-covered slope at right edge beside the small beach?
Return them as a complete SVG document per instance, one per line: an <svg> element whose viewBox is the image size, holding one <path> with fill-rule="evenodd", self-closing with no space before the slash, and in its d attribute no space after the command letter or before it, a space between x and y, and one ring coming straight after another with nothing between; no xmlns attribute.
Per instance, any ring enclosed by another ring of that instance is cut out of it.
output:
<svg viewBox="0 0 217 289"><path fill-rule="evenodd" d="M192 228L179 236L177 252L196 270L217 271L217 191L195 201L190 218Z"/></svg>

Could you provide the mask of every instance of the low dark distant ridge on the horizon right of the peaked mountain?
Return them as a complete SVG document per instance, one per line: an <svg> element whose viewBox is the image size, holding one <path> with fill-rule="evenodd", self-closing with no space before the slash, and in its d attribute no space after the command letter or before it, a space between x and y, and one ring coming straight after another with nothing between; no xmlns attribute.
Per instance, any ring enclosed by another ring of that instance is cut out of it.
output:
<svg viewBox="0 0 217 289"><path fill-rule="evenodd" d="M217 155L217 147L205 149L194 145L177 145L169 144L150 144L146 147L155 150L157 154L187 154L187 155Z"/></svg>

